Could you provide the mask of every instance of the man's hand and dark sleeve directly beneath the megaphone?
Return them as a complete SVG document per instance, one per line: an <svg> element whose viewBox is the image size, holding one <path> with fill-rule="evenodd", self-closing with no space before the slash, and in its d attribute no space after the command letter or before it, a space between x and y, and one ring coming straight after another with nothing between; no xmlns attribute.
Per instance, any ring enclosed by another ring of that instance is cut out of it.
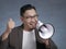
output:
<svg viewBox="0 0 66 49"><path fill-rule="evenodd" d="M50 39L45 39L43 41L43 44L45 45L46 49L57 49L56 44L50 38Z"/></svg>

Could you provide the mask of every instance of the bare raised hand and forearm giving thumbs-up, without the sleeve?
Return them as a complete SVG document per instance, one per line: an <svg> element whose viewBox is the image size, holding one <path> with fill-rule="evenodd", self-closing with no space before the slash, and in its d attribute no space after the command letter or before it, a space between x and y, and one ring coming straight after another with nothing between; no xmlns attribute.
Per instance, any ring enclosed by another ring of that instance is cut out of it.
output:
<svg viewBox="0 0 66 49"><path fill-rule="evenodd" d="M2 41L8 38L10 32L12 30L12 28L14 28L14 21L12 19L10 19L9 22L8 22L8 25L7 25L7 29L2 34Z"/></svg>

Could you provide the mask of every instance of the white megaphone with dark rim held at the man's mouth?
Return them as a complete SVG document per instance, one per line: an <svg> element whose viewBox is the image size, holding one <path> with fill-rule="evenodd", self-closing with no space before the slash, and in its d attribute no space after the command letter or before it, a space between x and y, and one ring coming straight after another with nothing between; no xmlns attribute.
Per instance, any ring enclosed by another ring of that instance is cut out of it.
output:
<svg viewBox="0 0 66 49"><path fill-rule="evenodd" d="M37 22L36 28L38 29L38 35L43 39L48 39L54 34L54 27L52 24L44 24L41 21Z"/></svg>

